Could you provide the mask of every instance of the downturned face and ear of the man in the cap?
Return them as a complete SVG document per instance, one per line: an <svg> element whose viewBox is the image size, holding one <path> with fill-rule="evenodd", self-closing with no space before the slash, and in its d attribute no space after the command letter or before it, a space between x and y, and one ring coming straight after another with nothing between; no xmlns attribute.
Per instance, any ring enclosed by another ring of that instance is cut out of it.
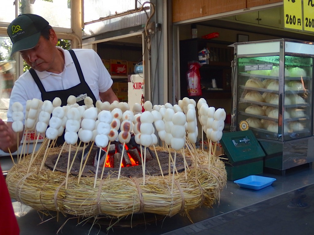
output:
<svg viewBox="0 0 314 235"><path fill-rule="evenodd" d="M54 72L56 49L51 37L49 40L40 36L38 43L35 47L20 51L24 61L33 69L43 72Z"/></svg>

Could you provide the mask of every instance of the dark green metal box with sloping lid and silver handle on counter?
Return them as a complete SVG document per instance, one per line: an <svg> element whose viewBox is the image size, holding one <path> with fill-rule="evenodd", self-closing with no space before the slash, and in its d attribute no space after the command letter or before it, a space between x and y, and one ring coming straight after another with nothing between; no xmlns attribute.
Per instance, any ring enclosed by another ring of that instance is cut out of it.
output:
<svg viewBox="0 0 314 235"><path fill-rule="evenodd" d="M263 173L265 153L251 130L224 133L220 142L228 158L225 161L228 180Z"/></svg>

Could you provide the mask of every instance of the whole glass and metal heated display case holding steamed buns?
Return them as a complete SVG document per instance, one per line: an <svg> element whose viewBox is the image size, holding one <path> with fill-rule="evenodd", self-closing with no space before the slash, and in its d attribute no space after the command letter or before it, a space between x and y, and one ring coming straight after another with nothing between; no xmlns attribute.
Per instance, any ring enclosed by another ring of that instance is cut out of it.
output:
<svg viewBox="0 0 314 235"><path fill-rule="evenodd" d="M312 42L235 43L231 130L253 131L264 167L284 174L314 160Z"/></svg>

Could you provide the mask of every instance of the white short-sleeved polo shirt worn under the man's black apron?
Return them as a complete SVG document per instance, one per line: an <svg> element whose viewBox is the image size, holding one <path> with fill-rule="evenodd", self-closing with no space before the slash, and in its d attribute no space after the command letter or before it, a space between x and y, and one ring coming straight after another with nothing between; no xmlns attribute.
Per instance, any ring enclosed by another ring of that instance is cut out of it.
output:
<svg viewBox="0 0 314 235"><path fill-rule="evenodd" d="M56 74L46 71L36 71L47 92L65 90L80 83L70 52L61 47L57 47L57 49L64 54L65 66L63 72ZM112 85L112 79L109 72L95 51L91 49L73 49L73 51L78 58L86 83L95 95L96 100L100 100L99 93L107 91ZM41 92L32 75L27 71L14 83L7 114L8 122L13 121L11 107L14 102L19 102L23 105L25 116L26 101L34 98L41 100Z"/></svg>

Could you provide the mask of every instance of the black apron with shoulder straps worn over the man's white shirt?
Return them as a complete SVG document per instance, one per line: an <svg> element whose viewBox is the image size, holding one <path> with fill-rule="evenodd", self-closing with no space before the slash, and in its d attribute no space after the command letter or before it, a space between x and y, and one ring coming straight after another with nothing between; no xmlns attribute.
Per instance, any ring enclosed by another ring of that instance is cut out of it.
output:
<svg viewBox="0 0 314 235"><path fill-rule="evenodd" d="M70 95L74 95L75 97L79 97L81 95L86 94L93 100L94 106L96 106L96 97L89 88L88 84L86 83L84 79L84 75L81 69L81 66L79 65L78 59L75 56L75 53L73 50L68 50L70 52L70 55L72 56L74 65L76 67L76 71L78 72L78 77L80 79L80 83L74 87L68 88L66 90L57 90L57 91L46 91L43 84L41 83L41 80L39 79L37 73L33 68L30 69L30 74L32 75L35 83L37 84L39 90L41 91L41 99L42 101L50 100L51 102L56 97L59 97L61 99L61 106L67 105L68 97ZM79 105L84 105L84 99L77 102ZM62 136L60 136L57 140L57 146L62 145L64 143L64 133Z"/></svg>

